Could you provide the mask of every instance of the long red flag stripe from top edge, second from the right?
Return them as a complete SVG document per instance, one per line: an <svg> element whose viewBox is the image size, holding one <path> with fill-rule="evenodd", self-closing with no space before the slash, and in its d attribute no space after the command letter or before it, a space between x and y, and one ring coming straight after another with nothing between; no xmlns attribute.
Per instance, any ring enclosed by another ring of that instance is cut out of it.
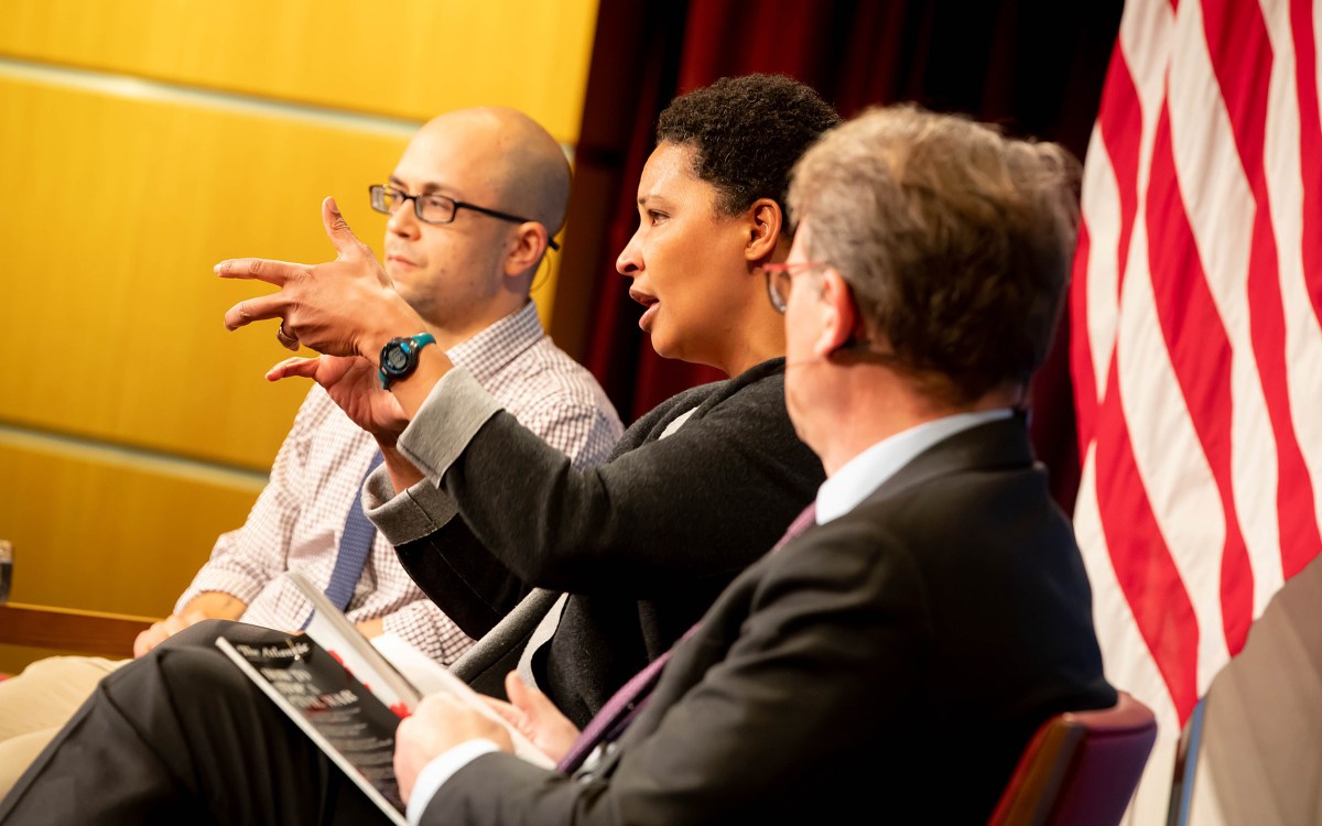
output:
<svg viewBox="0 0 1322 826"><path fill-rule="evenodd" d="M1244 173L1253 190L1248 299L1253 353L1276 439L1281 567L1285 579L1289 579L1317 556L1322 548L1322 534L1313 511L1313 481L1290 419L1285 308L1264 168L1268 81L1274 56L1257 4L1208 3L1204 21L1212 67L1231 118ZM1315 81L1309 86L1315 90ZM1231 654L1237 654L1243 637L1227 637L1227 641Z"/></svg>

